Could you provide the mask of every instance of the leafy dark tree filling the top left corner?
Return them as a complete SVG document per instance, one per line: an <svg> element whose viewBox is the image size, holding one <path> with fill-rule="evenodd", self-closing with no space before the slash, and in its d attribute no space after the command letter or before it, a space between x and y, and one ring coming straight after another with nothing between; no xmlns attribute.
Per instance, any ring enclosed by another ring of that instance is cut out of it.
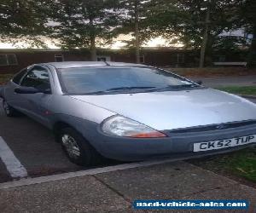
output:
<svg viewBox="0 0 256 213"><path fill-rule="evenodd" d="M26 41L31 46L45 46L41 36L49 33L49 3L49 0L1 0L0 41Z"/></svg>

